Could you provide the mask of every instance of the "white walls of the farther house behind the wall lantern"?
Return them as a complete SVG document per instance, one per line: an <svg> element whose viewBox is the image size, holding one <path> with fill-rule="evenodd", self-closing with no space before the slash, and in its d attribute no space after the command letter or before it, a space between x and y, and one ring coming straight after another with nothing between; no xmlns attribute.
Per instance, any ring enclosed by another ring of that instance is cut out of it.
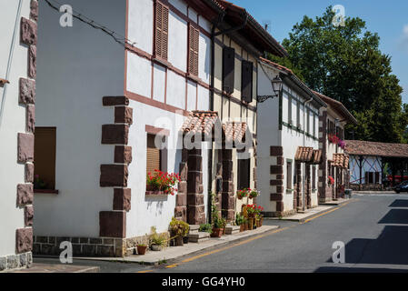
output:
<svg viewBox="0 0 408 291"><path fill-rule="evenodd" d="M267 72L269 78L265 74ZM258 95L273 95L273 89L270 78L274 78L277 71L264 65L264 70L258 70ZM270 71L267 71L270 70ZM297 98L300 98L304 102L304 97L298 95L288 85L284 85L284 93L282 97L282 121L289 123L289 106L292 106L292 121L293 125L300 123L304 124L304 109L301 107L300 120L296 120L296 101L292 99L292 103L289 104L289 97L285 93L290 92ZM315 124L315 137L318 137L318 118L319 109L313 105L309 105L315 116L305 115L305 118L310 118L310 134L313 135L313 123ZM304 130L306 130L306 127ZM286 177L287 162L292 161L292 181L294 184L294 156L299 146L309 146L314 149L318 149L319 143L317 139L313 139L307 135L297 132L285 125L282 125L282 130L279 129L279 97L274 99L268 99L263 104L258 105L258 189L263 193L258 198L258 203L264 206L264 211L274 212L276 211L276 202L270 201L270 194L276 193L276 186L270 186L270 180L276 179L276 175L270 175L270 166L276 165L276 157L270 156L270 146L283 146L284 147L284 211L294 208L294 194L286 192ZM311 167L312 169L312 167ZM304 164L302 167L304 173ZM304 175L304 174L303 174ZM315 186L318 185L318 172L316 166ZM313 178L311 173L311 178ZM318 205L317 190L312 192L312 206Z"/></svg>

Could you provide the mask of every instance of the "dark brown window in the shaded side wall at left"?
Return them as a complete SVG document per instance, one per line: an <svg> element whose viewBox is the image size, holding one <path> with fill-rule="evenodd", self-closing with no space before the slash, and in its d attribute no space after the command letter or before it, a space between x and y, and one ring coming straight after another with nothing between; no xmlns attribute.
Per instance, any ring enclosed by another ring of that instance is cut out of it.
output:
<svg viewBox="0 0 408 291"><path fill-rule="evenodd" d="M55 190L56 128L35 127L35 176L40 183L36 189Z"/></svg>

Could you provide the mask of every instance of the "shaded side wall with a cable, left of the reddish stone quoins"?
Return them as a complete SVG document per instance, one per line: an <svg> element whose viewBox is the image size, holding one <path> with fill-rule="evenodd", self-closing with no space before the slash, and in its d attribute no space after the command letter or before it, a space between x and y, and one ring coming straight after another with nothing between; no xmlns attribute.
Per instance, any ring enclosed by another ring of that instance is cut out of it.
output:
<svg viewBox="0 0 408 291"><path fill-rule="evenodd" d="M101 145L102 125L114 123L102 98L123 95L124 46L75 19L63 28L61 14L39 4L36 126L56 126L59 195L35 194L35 235L99 236L99 212L113 203L112 188L99 186L100 166L114 159L114 146ZM65 4L124 35L124 0Z"/></svg>

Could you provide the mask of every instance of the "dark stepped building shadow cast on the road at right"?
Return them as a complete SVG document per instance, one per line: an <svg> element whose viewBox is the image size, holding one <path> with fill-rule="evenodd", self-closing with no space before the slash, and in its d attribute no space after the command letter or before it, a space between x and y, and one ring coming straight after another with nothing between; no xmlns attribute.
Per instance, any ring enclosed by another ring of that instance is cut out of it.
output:
<svg viewBox="0 0 408 291"><path fill-rule="evenodd" d="M408 207L408 200L395 200L390 207ZM390 209L378 222L385 225L383 232L375 239L353 238L345 246L346 264L403 265L408 266L408 209ZM332 263L332 258L327 260ZM408 272L408 270L379 268L323 266L315 272L364 273L364 272Z"/></svg>

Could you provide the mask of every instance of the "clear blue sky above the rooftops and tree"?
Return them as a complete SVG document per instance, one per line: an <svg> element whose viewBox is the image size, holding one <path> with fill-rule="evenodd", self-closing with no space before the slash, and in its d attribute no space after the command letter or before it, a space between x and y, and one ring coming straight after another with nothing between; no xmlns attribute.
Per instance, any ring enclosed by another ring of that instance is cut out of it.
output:
<svg viewBox="0 0 408 291"><path fill-rule="evenodd" d="M381 37L383 54L391 55L393 74L403 86L403 102L408 103L408 1L406 0L230 0L244 7L260 23L269 23L270 32L279 42L288 37L294 24L304 15L323 15L329 5L343 5L346 16L358 16L367 29Z"/></svg>

